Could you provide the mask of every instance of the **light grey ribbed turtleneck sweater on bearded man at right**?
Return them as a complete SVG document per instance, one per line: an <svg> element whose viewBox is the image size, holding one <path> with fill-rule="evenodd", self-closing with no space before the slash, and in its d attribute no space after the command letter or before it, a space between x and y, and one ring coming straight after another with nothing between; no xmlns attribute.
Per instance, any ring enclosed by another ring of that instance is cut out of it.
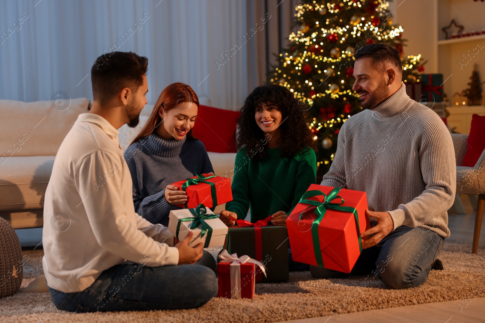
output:
<svg viewBox="0 0 485 323"><path fill-rule="evenodd" d="M366 192L369 209L389 212L394 229L423 227L448 238L456 185L452 138L438 115L411 100L402 84L343 124L322 185Z"/></svg>

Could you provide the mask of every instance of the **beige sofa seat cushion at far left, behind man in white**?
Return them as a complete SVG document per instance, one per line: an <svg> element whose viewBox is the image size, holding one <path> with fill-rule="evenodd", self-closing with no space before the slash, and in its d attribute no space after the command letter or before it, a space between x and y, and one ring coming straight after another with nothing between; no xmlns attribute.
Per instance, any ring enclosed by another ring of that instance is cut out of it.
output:
<svg viewBox="0 0 485 323"><path fill-rule="evenodd" d="M0 167L0 210L44 207L55 156L12 156Z"/></svg>

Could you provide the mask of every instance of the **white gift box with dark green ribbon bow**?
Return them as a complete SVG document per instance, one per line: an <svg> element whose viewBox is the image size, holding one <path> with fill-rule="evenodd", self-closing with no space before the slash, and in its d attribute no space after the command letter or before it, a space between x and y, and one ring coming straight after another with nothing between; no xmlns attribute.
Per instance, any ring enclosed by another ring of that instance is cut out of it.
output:
<svg viewBox="0 0 485 323"><path fill-rule="evenodd" d="M192 231L194 235L189 246L202 242L204 248L224 245L227 234L227 226L224 222L203 204L192 209L170 211L168 230L179 241Z"/></svg>

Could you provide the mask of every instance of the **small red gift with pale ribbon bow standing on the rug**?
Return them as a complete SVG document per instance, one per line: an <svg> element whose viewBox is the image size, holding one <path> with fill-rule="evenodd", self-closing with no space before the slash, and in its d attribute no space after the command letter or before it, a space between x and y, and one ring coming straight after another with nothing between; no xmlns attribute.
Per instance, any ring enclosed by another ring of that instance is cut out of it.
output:
<svg viewBox="0 0 485 323"><path fill-rule="evenodd" d="M238 258L236 253L230 255L222 250L217 264L219 297L253 298L256 284L256 266L266 275L265 266L257 260L244 255Z"/></svg>

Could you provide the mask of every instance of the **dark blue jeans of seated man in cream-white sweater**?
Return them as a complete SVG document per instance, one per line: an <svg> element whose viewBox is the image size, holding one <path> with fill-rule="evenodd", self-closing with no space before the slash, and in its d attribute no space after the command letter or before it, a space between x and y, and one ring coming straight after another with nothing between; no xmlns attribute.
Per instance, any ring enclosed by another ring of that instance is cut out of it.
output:
<svg viewBox="0 0 485 323"><path fill-rule="evenodd" d="M201 307L217 296L217 280L202 265L146 267L125 261L81 292L48 289L56 308L69 312L181 309Z"/></svg>

